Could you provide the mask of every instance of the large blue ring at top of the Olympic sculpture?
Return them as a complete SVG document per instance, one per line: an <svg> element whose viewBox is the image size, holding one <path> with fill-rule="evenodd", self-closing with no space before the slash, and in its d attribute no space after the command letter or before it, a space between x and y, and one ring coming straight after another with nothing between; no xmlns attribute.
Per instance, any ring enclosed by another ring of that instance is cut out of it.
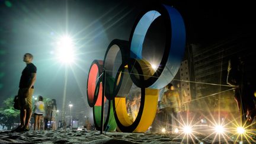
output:
<svg viewBox="0 0 256 144"><path fill-rule="evenodd" d="M139 60L143 59L142 45L146 36L146 32L148 31L148 28L150 27L152 21L154 21L158 17L164 17L164 20L167 20L167 23L170 24L170 29L169 31L167 31L167 33L171 33L171 36L167 37L169 40L167 39L167 44L165 46L165 52L168 52L168 57L162 57L161 64L158 66L158 73L155 72L152 76L158 78L152 78L149 79L149 81L144 80L144 82L140 81L140 84L133 81L135 82L137 87L149 87L155 89L165 87L165 85L172 81L172 79L178 72L181 60L183 59L185 49L185 24L183 18L181 17L177 9L169 7L167 5L162 6L164 6L164 8L159 8L159 11L148 11L146 12L146 14L143 15L143 17L140 18L134 29L132 39L130 40L130 57Z"/></svg>

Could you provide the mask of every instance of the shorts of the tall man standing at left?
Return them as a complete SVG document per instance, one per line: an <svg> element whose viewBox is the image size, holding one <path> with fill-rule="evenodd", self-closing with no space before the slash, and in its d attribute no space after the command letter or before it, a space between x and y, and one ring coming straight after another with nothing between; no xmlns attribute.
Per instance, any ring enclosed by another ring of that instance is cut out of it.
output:
<svg viewBox="0 0 256 144"><path fill-rule="evenodd" d="M21 110L32 110L32 95L34 92L34 88L28 89L28 96L25 97L25 89L20 88L18 91L18 97L20 100Z"/></svg>

